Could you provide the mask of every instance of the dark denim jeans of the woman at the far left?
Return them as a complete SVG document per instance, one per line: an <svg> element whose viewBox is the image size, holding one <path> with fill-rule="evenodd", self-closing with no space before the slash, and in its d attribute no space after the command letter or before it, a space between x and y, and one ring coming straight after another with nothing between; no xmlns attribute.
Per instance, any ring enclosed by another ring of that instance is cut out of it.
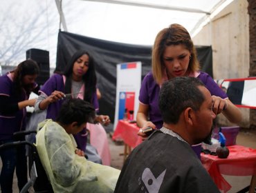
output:
<svg viewBox="0 0 256 193"><path fill-rule="evenodd" d="M0 141L0 145L12 142L13 140ZM1 192L12 192L13 174L16 167L19 191L28 181L28 166L26 159L26 149L24 145L19 148L8 148L0 150L0 156L3 163L0 175Z"/></svg>

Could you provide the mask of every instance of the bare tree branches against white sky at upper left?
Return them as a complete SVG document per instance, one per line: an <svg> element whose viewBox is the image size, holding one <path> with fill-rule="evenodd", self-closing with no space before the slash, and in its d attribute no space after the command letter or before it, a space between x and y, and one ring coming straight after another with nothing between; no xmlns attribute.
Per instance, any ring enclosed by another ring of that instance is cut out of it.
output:
<svg viewBox="0 0 256 193"><path fill-rule="evenodd" d="M39 1L29 1L30 4L16 2L6 1L7 5L0 8L0 63L11 65L24 59L26 50L35 47L46 49L50 38L55 38L57 42L58 16L55 5L51 5L55 8L53 12ZM55 30L51 26L55 26Z"/></svg>

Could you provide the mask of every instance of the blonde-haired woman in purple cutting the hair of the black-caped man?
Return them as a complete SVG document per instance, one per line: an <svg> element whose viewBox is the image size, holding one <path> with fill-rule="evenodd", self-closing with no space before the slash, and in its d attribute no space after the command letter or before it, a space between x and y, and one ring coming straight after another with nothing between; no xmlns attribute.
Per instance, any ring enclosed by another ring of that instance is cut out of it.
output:
<svg viewBox="0 0 256 193"><path fill-rule="evenodd" d="M136 121L142 129L160 129L163 125L158 108L158 94L163 82L174 77L196 77L212 94L215 114L223 113L232 123L241 121L240 110L232 104L212 77L199 71L196 48L188 31L179 24L172 24L158 32L152 49L152 72L146 74L140 88L139 108ZM182 88L181 88L182 89ZM189 92L189 90L188 90ZM138 132L146 137L147 134Z"/></svg>

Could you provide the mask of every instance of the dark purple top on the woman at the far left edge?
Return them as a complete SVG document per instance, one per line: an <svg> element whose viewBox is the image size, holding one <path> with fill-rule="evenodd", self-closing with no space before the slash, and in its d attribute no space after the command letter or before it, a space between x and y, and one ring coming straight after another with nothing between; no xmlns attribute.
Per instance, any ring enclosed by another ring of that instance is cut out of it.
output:
<svg viewBox="0 0 256 193"><path fill-rule="evenodd" d="M7 74L0 77L0 95L9 96L10 103L19 103L28 99L24 92L17 97L14 93L14 83ZM26 128L26 108L12 114L0 112L0 139L12 139L13 133Z"/></svg>

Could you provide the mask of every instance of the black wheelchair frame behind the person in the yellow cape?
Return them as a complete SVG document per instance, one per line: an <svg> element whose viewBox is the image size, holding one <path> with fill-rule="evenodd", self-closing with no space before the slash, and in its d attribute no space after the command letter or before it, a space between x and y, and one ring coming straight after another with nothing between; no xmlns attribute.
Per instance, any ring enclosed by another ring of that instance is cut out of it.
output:
<svg viewBox="0 0 256 193"><path fill-rule="evenodd" d="M28 179L28 183L26 183L26 185L24 185L24 187L22 188L21 193L52 193L53 187L51 186L50 181L48 181L48 177L39 159L37 148L35 147L34 143L31 143L29 141L19 141L19 139L21 139L22 137L24 139L24 136L27 136L29 134L36 134L36 131L15 132L13 134L15 142L0 145L0 150L6 148L18 148L20 147L20 145L26 145L28 156L28 173L30 178Z"/></svg>

